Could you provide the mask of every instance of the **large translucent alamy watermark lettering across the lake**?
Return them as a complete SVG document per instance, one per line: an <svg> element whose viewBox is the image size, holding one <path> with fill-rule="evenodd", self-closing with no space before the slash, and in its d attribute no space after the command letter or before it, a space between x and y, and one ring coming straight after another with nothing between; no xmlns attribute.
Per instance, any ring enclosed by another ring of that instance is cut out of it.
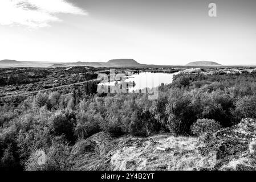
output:
<svg viewBox="0 0 256 182"><path fill-rule="evenodd" d="M149 100L158 98L161 83L157 75L146 76L145 80L140 80L143 81L143 88L141 87L141 82L125 81L129 77L124 73L116 73L115 69L110 69L109 75L99 73L97 81L100 81L100 83L97 85L97 93L143 93L148 95ZM135 84L139 84L138 88L140 89L133 89L132 92L129 92L129 89L134 88Z"/></svg>

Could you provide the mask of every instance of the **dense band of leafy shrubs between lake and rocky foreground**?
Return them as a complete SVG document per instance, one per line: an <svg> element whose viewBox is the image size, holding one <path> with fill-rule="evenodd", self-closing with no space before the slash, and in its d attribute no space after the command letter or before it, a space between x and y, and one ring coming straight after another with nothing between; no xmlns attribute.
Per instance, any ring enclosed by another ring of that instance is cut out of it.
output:
<svg viewBox="0 0 256 182"><path fill-rule="evenodd" d="M145 94L38 93L0 107L1 169L68 169L79 140L100 131L114 137L154 133L199 135L256 117L256 73L177 75L160 86L157 100ZM95 92L92 92L95 93ZM13 98L14 101L15 98ZM43 166L36 152L46 152Z"/></svg>

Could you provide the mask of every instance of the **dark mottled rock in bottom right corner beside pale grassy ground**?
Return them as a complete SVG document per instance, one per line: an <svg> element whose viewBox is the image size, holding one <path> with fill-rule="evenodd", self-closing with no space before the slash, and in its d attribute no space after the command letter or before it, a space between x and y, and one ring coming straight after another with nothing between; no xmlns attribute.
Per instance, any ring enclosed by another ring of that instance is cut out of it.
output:
<svg viewBox="0 0 256 182"><path fill-rule="evenodd" d="M204 146L198 150L202 155L216 151L217 163L213 169L254 170L256 161L250 146L255 139L256 119L246 118L238 125L202 135L199 140Z"/></svg>

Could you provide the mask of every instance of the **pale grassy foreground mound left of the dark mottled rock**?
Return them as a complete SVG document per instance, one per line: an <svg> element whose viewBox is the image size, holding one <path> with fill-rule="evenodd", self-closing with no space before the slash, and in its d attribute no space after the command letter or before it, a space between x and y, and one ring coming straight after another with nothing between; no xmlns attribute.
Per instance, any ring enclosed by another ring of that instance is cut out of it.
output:
<svg viewBox="0 0 256 182"><path fill-rule="evenodd" d="M213 167L214 156L201 156L197 138L159 134L148 138L114 138L98 133L76 143L72 170L195 170Z"/></svg>

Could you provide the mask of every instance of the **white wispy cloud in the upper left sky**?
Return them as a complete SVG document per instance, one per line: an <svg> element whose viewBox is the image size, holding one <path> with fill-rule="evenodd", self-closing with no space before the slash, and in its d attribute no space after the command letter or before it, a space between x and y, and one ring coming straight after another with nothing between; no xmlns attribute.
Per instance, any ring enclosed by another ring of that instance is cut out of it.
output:
<svg viewBox="0 0 256 182"><path fill-rule="evenodd" d="M0 24L21 24L31 28L60 22L58 14L87 15L83 9L65 0L1 0Z"/></svg>

